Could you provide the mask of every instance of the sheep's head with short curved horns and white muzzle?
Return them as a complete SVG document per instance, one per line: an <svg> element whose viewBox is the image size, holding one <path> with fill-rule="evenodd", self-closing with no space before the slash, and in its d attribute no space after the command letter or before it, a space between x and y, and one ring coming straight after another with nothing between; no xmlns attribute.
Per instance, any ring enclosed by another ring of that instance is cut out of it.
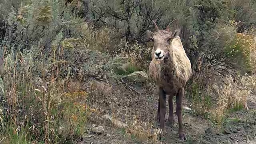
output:
<svg viewBox="0 0 256 144"><path fill-rule="evenodd" d="M176 19L177 20L177 19ZM175 20L174 20L175 21ZM172 22L174 22L172 21ZM172 23L170 22L170 24ZM165 30L158 30L156 23L153 20L155 25L155 32L151 32L150 30L146 31L146 35L150 38L150 41L154 42L154 47L152 50L152 57L162 61L164 59L168 59L170 53L172 53L172 49L170 48L170 44L174 37L179 36L180 29L176 29L174 32L170 31L170 24L166 27Z"/></svg>

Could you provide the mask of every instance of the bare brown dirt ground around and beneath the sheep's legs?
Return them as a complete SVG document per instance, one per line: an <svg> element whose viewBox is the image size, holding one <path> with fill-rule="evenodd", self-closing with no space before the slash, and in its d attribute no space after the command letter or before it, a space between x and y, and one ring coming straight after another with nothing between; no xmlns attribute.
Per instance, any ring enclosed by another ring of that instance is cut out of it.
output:
<svg viewBox="0 0 256 144"><path fill-rule="evenodd" d="M147 141L148 128L159 128L160 122L156 122L158 96L154 90L148 90L142 86L122 82L107 85L108 94L100 98L101 105L97 106L99 113L92 116L89 126L92 124L104 127L104 134L88 133L80 144L152 144ZM129 87L132 86L132 87ZM132 89L136 88L136 89ZM104 90L103 90L104 91ZM104 92L102 92L104 93ZM177 116L174 115L175 126L168 125L168 112L166 113L166 135L158 144L256 144L256 96L251 95L247 99L250 113L245 110L230 113L226 116L221 126L216 126L201 117L195 117L188 110L183 111L183 124L187 141L181 142L178 138ZM183 106L190 107L186 101ZM175 114L174 100L174 114ZM255 110L253 112L253 110ZM102 120L101 116L108 114L126 124L129 128L115 128ZM132 131L137 128L138 135ZM141 129L140 129L141 128ZM140 134L141 133L141 134Z"/></svg>

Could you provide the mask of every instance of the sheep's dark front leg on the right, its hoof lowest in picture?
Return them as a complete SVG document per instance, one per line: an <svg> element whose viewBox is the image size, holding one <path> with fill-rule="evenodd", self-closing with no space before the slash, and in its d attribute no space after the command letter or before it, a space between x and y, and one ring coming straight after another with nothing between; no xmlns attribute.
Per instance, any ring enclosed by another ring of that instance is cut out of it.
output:
<svg viewBox="0 0 256 144"><path fill-rule="evenodd" d="M184 128L182 125L182 99L184 96L184 88L180 88L180 90L178 90L178 94L176 95L176 114L178 116L178 123L179 123L179 137L180 140L187 140L185 133L184 133Z"/></svg>

